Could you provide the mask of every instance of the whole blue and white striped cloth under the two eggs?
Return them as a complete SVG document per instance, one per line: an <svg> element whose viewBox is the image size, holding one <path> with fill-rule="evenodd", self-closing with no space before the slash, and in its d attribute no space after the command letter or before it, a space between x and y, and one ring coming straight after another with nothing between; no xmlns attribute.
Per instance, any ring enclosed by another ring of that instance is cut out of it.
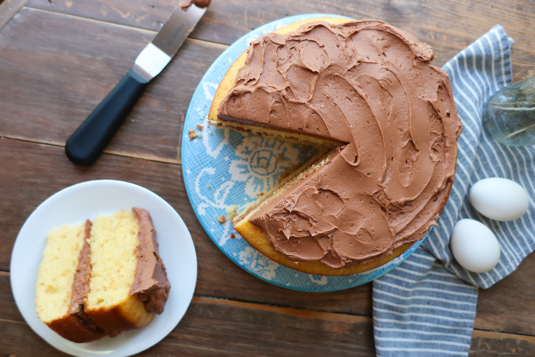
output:
<svg viewBox="0 0 535 357"><path fill-rule="evenodd" d="M507 147L482 125L488 97L511 82L510 46L494 26L444 67L452 82L463 132L457 142L457 170L450 198L424 244L406 261L373 282L373 328L377 355L467 356L476 314L477 287L489 287L514 271L535 249L535 146ZM475 211L467 193L487 177L521 184L530 195L528 212L510 222ZM462 218L486 224L501 246L500 262L476 274L462 268L449 249L449 236Z"/></svg>

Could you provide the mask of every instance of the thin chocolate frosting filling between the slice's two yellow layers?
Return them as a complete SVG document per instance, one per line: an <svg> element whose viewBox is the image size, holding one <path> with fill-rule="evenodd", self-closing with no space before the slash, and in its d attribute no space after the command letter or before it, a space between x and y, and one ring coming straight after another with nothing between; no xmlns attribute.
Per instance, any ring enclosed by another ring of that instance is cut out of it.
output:
<svg viewBox="0 0 535 357"><path fill-rule="evenodd" d="M84 311L84 307L89 294L89 279L91 278L91 247L89 239L91 233L91 221L86 220L85 232L82 249L78 255L78 267L74 274L72 283L71 301L69 303L69 312L77 317L78 322L86 329L98 335L104 336L104 330L98 327Z"/></svg>

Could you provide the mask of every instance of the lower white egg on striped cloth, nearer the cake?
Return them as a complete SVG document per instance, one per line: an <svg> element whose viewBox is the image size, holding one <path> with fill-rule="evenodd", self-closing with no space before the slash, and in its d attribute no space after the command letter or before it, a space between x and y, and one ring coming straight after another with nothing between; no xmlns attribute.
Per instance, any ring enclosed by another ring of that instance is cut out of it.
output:
<svg viewBox="0 0 535 357"><path fill-rule="evenodd" d="M455 260L461 267L482 273L500 260L500 244L486 225L475 219L461 219L453 227L449 241Z"/></svg>

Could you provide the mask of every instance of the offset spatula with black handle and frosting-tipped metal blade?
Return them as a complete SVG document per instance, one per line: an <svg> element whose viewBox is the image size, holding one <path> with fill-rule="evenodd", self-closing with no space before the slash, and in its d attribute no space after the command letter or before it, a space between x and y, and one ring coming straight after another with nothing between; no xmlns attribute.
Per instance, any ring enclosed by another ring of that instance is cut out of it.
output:
<svg viewBox="0 0 535 357"><path fill-rule="evenodd" d="M197 3L200 3L197 1ZM208 6L209 1L204 1ZM108 145L149 81L162 72L201 19L206 7L175 7L154 40L137 56L134 67L68 138L65 154L75 164L90 165Z"/></svg>

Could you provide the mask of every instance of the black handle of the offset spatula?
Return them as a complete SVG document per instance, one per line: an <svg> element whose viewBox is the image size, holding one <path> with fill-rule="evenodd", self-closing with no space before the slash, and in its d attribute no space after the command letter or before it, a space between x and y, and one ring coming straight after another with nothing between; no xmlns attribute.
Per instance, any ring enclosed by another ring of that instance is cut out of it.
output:
<svg viewBox="0 0 535 357"><path fill-rule="evenodd" d="M134 70L126 73L117 86L68 138L65 143L67 157L78 165L94 163L148 83L148 80Z"/></svg>

